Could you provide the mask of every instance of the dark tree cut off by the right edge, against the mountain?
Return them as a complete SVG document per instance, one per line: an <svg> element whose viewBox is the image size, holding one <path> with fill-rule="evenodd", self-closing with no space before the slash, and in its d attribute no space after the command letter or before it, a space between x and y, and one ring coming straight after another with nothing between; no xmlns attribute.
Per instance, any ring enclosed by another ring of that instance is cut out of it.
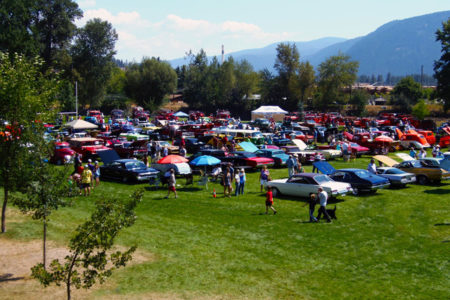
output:
<svg viewBox="0 0 450 300"><path fill-rule="evenodd" d="M436 91L444 99L444 111L450 109L450 19L436 32L436 40L441 42L441 57L434 62L434 77L437 79Z"/></svg>

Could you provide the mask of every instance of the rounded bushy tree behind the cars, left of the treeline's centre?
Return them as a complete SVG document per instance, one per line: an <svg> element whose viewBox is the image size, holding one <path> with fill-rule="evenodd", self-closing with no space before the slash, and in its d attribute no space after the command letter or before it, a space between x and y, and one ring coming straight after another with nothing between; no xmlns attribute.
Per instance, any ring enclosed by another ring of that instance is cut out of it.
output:
<svg viewBox="0 0 450 300"><path fill-rule="evenodd" d="M167 94L177 86L177 74L168 62L157 58L144 58L132 64L125 73L125 91L137 104L154 110Z"/></svg>

